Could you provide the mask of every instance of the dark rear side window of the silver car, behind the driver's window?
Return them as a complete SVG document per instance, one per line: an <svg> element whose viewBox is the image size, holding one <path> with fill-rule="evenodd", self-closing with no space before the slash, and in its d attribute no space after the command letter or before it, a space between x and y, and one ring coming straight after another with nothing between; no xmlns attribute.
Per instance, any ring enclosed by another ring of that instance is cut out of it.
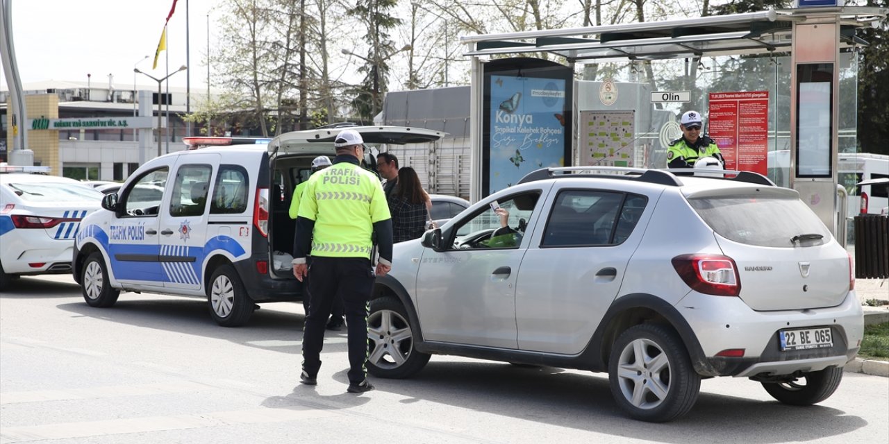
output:
<svg viewBox="0 0 889 444"><path fill-rule="evenodd" d="M634 219L638 219L635 213L628 214L624 233L614 235L623 201L622 193L592 190L560 192L549 212L541 247L586 247L623 242L629 236L627 227L631 232L636 225ZM642 208L645 208L644 204Z"/></svg>

